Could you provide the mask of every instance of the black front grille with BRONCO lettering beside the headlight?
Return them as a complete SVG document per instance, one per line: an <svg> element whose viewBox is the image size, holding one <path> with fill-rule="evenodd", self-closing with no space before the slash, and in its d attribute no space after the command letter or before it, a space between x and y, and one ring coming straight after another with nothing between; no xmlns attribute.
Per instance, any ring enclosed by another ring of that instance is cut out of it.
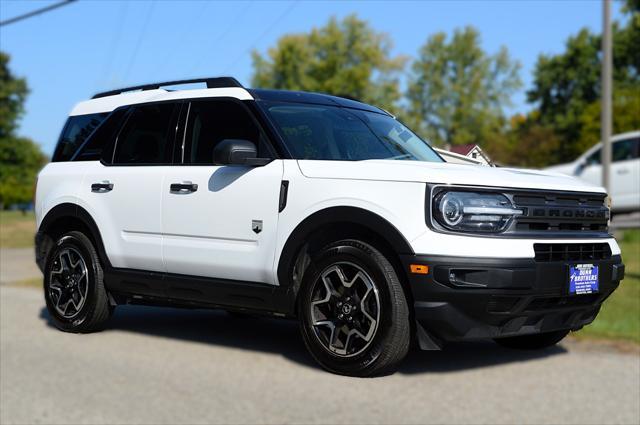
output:
<svg viewBox="0 0 640 425"><path fill-rule="evenodd" d="M605 195L566 192L516 192L516 208L523 214L515 220L515 233L603 233L608 230L609 209Z"/></svg>

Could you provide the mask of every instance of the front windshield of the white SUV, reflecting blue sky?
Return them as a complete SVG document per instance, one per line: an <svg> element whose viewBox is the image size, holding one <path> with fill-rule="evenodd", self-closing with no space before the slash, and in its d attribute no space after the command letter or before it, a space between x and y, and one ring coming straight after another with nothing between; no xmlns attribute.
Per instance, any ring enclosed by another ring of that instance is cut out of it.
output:
<svg viewBox="0 0 640 425"><path fill-rule="evenodd" d="M302 103L263 106L295 159L442 162L425 141L385 114Z"/></svg>

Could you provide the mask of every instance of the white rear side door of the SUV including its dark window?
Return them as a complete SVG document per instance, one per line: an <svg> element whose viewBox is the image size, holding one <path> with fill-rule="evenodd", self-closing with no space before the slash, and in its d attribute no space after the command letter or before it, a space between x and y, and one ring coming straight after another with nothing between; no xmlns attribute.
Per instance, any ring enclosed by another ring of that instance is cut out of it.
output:
<svg viewBox="0 0 640 425"><path fill-rule="evenodd" d="M93 161L84 176L82 197L114 267L164 271L162 183L172 163L180 106L131 107L113 149Z"/></svg>

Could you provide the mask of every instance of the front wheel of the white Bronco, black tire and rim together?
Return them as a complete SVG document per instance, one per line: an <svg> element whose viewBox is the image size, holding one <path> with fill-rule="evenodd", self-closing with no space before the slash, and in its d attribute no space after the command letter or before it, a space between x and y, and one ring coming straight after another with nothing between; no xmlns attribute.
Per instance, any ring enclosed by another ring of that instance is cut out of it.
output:
<svg viewBox="0 0 640 425"><path fill-rule="evenodd" d="M358 240L332 243L314 256L298 317L307 349L332 373L393 373L409 350L409 306L398 274L380 251Z"/></svg>

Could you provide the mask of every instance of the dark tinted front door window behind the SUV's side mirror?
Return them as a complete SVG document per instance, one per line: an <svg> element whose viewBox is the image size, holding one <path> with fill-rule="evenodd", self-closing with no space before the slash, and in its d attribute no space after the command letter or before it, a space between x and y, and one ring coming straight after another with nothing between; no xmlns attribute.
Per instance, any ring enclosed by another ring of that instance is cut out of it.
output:
<svg viewBox="0 0 640 425"><path fill-rule="evenodd" d="M258 147L259 157L270 157L266 138L241 104L229 100L192 102L187 120L184 162L212 164L213 149L224 139L244 139Z"/></svg>

